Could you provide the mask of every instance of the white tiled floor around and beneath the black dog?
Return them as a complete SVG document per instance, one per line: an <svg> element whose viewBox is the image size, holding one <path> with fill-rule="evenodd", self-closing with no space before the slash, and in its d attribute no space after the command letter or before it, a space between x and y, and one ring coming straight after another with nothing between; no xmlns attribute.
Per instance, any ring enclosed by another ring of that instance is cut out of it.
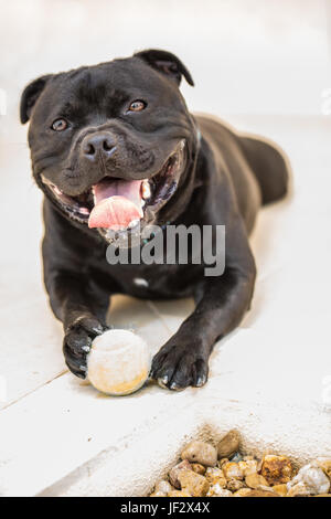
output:
<svg viewBox="0 0 331 519"><path fill-rule="evenodd" d="M153 423L163 423L162 434L169 430L171 435L183 409L204 413L202 422L216 430L239 427L246 444L255 443L255 448L257 443L298 459L328 454L328 449L331 455L331 415L321 403L322 377L331 374L331 205L325 189L331 120L232 117L231 123L284 147L291 159L293 194L259 215L252 237L258 264L252 311L241 330L215 348L207 386L181 394L152 385L127 399L105 399L64 374L61 326L51 315L41 282L41 197L30 179L26 147L1 146L1 192L7 193L0 206L4 244L0 374L8 382L0 413L3 495L96 494L103 470L108 470L110 480L114 476L113 457L104 467L96 462L97 453L111 452L135 431L153 431ZM141 303L118 297L110 316L116 326L136 329L156 351L191 308L190 300ZM167 422L166 412L171 416ZM104 428L106 416L111 432ZM191 434L192 416L186 428ZM88 437L94 438L92 444ZM61 456L52 454L55 443ZM173 455L174 438L171 445ZM94 473L95 463L104 468ZM86 464L85 480L85 469L79 467ZM130 492L122 485L114 480L114 491ZM107 486L98 488L111 491ZM147 488L146 484L143 491Z"/></svg>

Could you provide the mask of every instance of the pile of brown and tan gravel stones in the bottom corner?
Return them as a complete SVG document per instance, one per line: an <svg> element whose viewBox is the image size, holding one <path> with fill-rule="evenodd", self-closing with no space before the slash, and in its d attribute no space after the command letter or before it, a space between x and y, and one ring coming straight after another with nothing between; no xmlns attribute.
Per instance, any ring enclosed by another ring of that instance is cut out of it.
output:
<svg viewBox="0 0 331 519"><path fill-rule="evenodd" d="M296 470L287 456L261 459L241 454L241 436L229 431L216 447L191 442L150 497L331 497L331 459Z"/></svg>

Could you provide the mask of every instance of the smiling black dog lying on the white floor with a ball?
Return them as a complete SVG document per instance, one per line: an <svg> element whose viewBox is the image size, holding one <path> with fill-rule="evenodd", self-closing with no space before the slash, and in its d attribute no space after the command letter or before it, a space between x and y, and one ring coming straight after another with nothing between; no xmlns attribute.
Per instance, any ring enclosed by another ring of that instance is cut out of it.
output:
<svg viewBox="0 0 331 519"><path fill-rule="evenodd" d="M182 76L193 85L178 57L149 50L42 76L23 92L21 121L31 119L33 176L45 195L44 282L77 377L105 330L110 294L194 296L195 310L152 361L151 377L172 390L206 382L214 342L249 308L256 269L247 236L260 204L286 194L287 166L273 146L193 117ZM110 214L100 203L115 195ZM192 263L109 265L107 227L130 227L132 218L163 230L225 225L223 275L205 277Z"/></svg>

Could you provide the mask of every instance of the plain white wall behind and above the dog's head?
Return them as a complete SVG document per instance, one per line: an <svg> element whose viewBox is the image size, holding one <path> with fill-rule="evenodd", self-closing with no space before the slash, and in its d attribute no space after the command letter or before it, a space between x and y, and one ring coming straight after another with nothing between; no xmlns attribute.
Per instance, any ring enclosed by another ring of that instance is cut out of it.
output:
<svg viewBox="0 0 331 519"><path fill-rule="evenodd" d="M330 32L331 0L0 0L0 131L20 131L30 80L145 47L184 61L196 84L183 86L192 109L320 114Z"/></svg>

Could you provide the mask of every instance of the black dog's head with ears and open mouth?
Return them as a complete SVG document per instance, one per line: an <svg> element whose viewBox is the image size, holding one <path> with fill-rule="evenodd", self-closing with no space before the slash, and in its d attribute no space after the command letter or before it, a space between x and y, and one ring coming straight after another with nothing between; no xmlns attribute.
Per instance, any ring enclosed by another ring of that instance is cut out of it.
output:
<svg viewBox="0 0 331 519"><path fill-rule="evenodd" d="M197 138L182 76L193 85L177 56L150 50L26 86L33 174L66 218L107 239L183 211Z"/></svg>

